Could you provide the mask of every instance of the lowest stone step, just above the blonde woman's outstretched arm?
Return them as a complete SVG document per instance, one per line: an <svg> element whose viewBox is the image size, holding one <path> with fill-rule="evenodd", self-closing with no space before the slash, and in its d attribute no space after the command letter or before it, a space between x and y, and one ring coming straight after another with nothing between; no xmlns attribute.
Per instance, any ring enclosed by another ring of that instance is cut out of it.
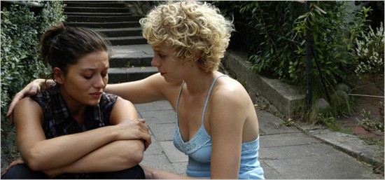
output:
<svg viewBox="0 0 385 180"><path fill-rule="evenodd" d="M110 68L109 83L124 83L137 81L158 73L156 67Z"/></svg>

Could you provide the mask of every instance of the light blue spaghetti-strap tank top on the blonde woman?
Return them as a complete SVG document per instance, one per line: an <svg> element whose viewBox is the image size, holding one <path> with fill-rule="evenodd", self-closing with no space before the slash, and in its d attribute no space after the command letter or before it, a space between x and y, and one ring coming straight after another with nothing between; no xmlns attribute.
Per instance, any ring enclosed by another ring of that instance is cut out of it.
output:
<svg viewBox="0 0 385 180"><path fill-rule="evenodd" d="M179 99L181 98L182 88L184 82L179 90L179 96L176 102L176 127L174 133L174 146L179 151L188 155L188 165L186 174L190 177L210 178L211 177L211 136L204 129L204 113L206 112L211 90L218 78L226 76L221 75L214 79L211 84L209 94L207 95L206 103L204 104L202 114L202 125L197 130L195 136L190 141L184 142L181 137L179 130L178 120L178 106ZM265 179L263 176L263 169L260 167L258 161L258 150L259 150L259 136L254 141L242 143L241 146L241 165L239 167L239 179Z"/></svg>

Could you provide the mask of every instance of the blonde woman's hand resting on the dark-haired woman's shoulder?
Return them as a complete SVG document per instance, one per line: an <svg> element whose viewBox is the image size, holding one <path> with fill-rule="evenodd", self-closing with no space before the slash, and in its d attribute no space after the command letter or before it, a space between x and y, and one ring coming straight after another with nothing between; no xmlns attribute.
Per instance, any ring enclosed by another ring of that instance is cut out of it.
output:
<svg viewBox="0 0 385 180"><path fill-rule="evenodd" d="M13 97L12 102L8 107L7 118L10 118L10 125L13 125L13 109L15 109L16 104L22 99L25 95L36 95L40 90L44 90L47 86L52 85L53 81L46 81L47 85L44 85L45 79L38 78L25 86L20 92L16 93L15 97Z"/></svg>

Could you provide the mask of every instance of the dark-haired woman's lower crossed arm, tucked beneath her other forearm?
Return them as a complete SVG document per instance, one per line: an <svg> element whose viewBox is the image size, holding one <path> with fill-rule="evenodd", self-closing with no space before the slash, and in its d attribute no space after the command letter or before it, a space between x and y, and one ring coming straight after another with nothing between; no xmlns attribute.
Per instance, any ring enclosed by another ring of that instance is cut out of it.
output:
<svg viewBox="0 0 385 180"><path fill-rule="evenodd" d="M131 102L119 97L113 107L110 118L112 125L127 123L125 119L137 119L137 111ZM141 123L143 123L142 125L146 129L147 127L144 124L144 120L141 120ZM139 162L143 160L144 149L150 144L150 134L148 134L146 140L113 141L106 146L92 151L70 165L46 171L45 173L49 176L55 176L64 173L113 172L128 169L138 165Z"/></svg>

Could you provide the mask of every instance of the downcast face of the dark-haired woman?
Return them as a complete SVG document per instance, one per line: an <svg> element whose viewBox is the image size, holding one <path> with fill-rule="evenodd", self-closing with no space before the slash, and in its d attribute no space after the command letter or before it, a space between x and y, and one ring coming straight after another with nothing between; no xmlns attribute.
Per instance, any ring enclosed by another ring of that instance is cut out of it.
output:
<svg viewBox="0 0 385 180"><path fill-rule="evenodd" d="M67 106L99 104L109 76L109 57L104 51L90 53L70 65L62 76L61 92Z"/></svg>

